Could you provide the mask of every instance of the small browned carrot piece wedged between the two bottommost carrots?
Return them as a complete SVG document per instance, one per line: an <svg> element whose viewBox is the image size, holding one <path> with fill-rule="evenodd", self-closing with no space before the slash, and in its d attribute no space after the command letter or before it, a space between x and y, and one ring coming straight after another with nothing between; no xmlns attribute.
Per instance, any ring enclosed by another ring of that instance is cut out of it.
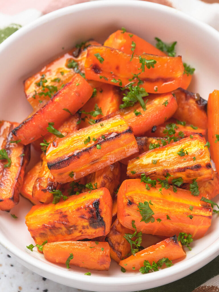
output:
<svg viewBox="0 0 219 292"><path fill-rule="evenodd" d="M126 258L130 253L131 247L128 241L124 238L125 233L132 233L132 230L122 226L119 220L116 219L111 226L110 232L107 234L106 241L110 246L110 257L117 263L122 258Z"/></svg>

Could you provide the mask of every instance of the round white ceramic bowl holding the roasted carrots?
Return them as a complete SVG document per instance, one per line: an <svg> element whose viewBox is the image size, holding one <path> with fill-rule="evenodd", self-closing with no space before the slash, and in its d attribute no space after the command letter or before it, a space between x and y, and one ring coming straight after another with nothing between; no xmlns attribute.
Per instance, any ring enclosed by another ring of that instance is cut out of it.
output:
<svg viewBox="0 0 219 292"><path fill-rule="evenodd" d="M196 68L190 89L205 99L219 89L219 33L173 8L144 1L93 1L66 7L45 15L10 36L0 46L1 119L22 121L31 107L23 91L23 80L56 55L76 43L94 38L102 42L122 26L154 44L157 36L177 41L177 53ZM206 235L192 246L187 257L173 267L150 274L122 273L116 263L108 272L94 272L90 277L82 268L65 267L47 262L26 245L33 243L25 225L31 204L21 198L12 213L0 213L0 242L8 253L42 276L59 283L92 291L136 291L167 284L194 272L219 254L219 218L213 215Z"/></svg>

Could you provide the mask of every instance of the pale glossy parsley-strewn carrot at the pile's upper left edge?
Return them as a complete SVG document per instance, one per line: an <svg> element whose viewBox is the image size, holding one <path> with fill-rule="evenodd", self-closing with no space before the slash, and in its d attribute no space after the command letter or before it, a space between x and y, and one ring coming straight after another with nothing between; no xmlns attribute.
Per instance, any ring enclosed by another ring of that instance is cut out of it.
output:
<svg viewBox="0 0 219 292"><path fill-rule="evenodd" d="M71 81L75 73L84 74L86 48L99 45L96 41L87 41L44 66L39 72L27 78L24 91L27 101L37 110L45 105L50 98Z"/></svg>

